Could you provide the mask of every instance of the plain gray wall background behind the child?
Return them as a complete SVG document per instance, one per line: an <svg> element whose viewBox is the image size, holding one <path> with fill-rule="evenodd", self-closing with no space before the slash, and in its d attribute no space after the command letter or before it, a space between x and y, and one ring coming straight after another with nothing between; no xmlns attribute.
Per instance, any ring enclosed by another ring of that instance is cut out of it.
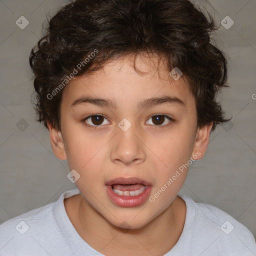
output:
<svg viewBox="0 0 256 256"><path fill-rule="evenodd" d="M256 235L256 0L196 2L214 14L218 25L226 15L234 21L229 29L220 25L214 35L229 56L231 88L218 99L232 119L211 134L206 155L190 166L180 193L219 207ZM29 52L41 36L46 14L63 4L0 0L0 223L75 188L66 177L67 162L54 156L48 131L35 121L30 102ZM29 21L24 29L15 24L22 15Z"/></svg>

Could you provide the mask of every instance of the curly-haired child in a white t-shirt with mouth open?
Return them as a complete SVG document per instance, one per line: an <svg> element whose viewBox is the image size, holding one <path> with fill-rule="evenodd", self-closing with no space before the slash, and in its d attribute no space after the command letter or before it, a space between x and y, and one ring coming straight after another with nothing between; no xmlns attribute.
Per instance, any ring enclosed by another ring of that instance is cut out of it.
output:
<svg viewBox="0 0 256 256"><path fill-rule="evenodd" d="M50 19L36 110L77 189L1 224L1 256L256 255L245 226L178 194L228 120L214 29L188 0L76 0Z"/></svg>

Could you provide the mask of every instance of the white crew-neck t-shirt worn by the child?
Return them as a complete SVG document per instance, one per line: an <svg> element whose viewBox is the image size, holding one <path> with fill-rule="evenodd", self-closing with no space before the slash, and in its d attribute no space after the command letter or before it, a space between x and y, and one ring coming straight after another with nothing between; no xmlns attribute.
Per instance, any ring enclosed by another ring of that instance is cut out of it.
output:
<svg viewBox="0 0 256 256"><path fill-rule="evenodd" d="M0 256L102 256L89 246L70 222L63 199L78 194L78 188L0 225ZM255 256L251 232L224 211L178 194L186 203L183 231L164 256ZM21 221L21 222L20 222Z"/></svg>

